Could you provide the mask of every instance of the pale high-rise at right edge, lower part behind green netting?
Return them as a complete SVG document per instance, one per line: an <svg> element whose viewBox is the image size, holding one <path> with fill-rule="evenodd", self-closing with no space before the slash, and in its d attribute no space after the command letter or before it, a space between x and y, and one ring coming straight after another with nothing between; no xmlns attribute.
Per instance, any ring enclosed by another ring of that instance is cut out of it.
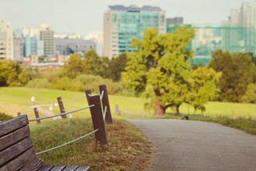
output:
<svg viewBox="0 0 256 171"><path fill-rule="evenodd" d="M230 11L228 21L222 22L223 50L256 52L256 3L243 2L240 9Z"/></svg>

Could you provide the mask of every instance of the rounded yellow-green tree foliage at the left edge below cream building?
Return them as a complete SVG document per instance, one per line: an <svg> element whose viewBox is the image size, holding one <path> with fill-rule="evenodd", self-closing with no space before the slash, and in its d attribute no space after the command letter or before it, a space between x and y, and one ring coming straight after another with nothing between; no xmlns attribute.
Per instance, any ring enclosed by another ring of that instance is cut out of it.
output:
<svg viewBox="0 0 256 171"><path fill-rule="evenodd" d="M18 62L0 61L0 86L25 85L28 81L26 71Z"/></svg>

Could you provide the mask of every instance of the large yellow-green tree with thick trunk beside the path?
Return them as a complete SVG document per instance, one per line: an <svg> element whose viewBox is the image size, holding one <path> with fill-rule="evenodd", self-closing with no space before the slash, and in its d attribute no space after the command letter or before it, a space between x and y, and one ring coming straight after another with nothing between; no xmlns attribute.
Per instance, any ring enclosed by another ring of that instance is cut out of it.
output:
<svg viewBox="0 0 256 171"><path fill-rule="evenodd" d="M129 53L126 66L126 81L137 92L146 84L154 89L154 114L163 115L170 106L176 112L186 101L191 76L188 50L194 30L180 26L172 34L158 34L158 30L146 30L142 41L134 38L132 46L137 53Z"/></svg>

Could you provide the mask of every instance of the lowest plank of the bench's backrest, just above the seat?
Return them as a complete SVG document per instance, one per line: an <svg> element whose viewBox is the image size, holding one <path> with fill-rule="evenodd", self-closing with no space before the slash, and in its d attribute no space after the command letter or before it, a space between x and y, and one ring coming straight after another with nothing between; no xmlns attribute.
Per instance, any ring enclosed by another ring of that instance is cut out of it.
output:
<svg viewBox="0 0 256 171"><path fill-rule="evenodd" d="M16 157L14 160L8 162L0 168L0 171L6 170L18 170L21 169L26 163L31 161L32 158L35 157L33 147L26 150L25 153L22 153L20 156Z"/></svg>

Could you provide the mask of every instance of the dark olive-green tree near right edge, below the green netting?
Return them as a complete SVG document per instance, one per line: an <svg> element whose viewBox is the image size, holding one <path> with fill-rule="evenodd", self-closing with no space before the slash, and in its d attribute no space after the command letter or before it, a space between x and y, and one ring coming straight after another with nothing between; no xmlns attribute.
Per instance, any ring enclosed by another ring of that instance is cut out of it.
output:
<svg viewBox="0 0 256 171"><path fill-rule="evenodd" d="M251 54L230 54L217 50L209 66L222 72L219 80L220 101L241 102L247 85L256 82L256 66Z"/></svg>

